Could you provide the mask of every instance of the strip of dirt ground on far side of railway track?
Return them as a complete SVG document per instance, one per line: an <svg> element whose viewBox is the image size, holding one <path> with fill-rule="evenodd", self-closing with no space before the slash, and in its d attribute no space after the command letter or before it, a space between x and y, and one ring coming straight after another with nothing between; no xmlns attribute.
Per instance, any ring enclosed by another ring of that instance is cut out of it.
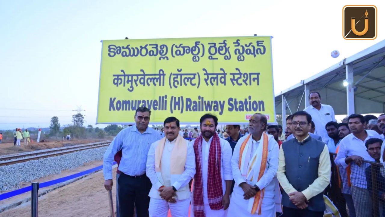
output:
<svg viewBox="0 0 385 217"><path fill-rule="evenodd" d="M99 139L90 140L70 140L70 141L44 141L44 142L29 142L28 146L24 147L24 141L20 142L21 146L14 146L13 142L2 142L0 144L0 155L17 154L27 151L37 151L42 149L49 149L55 147L73 146L79 144L87 144L92 142L99 142Z"/></svg>

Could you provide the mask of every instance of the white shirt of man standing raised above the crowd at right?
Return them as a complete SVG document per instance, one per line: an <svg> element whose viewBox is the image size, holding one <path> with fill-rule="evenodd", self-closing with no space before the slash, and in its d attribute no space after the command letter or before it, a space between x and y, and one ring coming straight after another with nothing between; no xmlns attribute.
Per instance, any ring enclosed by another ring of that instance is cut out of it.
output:
<svg viewBox="0 0 385 217"><path fill-rule="evenodd" d="M321 136L322 140L326 142L329 136L328 132L326 132L325 125L330 121L336 121L333 107L321 103L320 110L313 107L313 105L309 105L304 111L310 114L311 120L313 120L315 124L314 134Z"/></svg>

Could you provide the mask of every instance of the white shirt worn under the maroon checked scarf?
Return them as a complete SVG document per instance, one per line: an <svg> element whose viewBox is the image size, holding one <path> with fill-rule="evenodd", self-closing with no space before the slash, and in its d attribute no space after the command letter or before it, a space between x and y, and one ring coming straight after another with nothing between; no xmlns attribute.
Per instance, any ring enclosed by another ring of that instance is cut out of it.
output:
<svg viewBox="0 0 385 217"><path fill-rule="evenodd" d="M191 141L190 144L194 145L194 141ZM209 204L207 197L207 180L208 180L208 163L209 163L209 148L211 146L211 141L213 137L209 139L208 142L202 139L202 179L203 179L203 201L205 205ZM223 195L226 192L226 182L225 180L233 180L233 175L231 173L231 155L232 150L228 141L219 138L221 143L221 177L222 177L222 189Z"/></svg>

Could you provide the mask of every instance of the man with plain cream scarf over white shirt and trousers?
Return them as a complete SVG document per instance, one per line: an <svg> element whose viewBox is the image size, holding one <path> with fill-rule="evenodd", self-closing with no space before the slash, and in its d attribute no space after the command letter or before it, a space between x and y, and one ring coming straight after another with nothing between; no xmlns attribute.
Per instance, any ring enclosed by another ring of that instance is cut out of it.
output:
<svg viewBox="0 0 385 217"><path fill-rule="evenodd" d="M189 181L195 174L194 149L179 136L179 120L175 117L165 120L164 129L166 137L152 143L147 155L146 175L152 183L149 215L166 217L170 209L172 216L184 217L191 202Z"/></svg>

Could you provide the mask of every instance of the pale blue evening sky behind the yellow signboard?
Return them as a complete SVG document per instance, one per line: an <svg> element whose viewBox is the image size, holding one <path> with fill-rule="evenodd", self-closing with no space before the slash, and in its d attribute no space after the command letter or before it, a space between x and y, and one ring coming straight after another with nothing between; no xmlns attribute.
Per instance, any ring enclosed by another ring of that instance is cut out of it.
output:
<svg viewBox="0 0 385 217"><path fill-rule="evenodd" d="M344 5L378 8L375 40L342 37ZM95 125L101 40L273 36L275 93L385 39L385 1L1 1L0 129ZM340 51L331 58L333 50Z"/></svg>

